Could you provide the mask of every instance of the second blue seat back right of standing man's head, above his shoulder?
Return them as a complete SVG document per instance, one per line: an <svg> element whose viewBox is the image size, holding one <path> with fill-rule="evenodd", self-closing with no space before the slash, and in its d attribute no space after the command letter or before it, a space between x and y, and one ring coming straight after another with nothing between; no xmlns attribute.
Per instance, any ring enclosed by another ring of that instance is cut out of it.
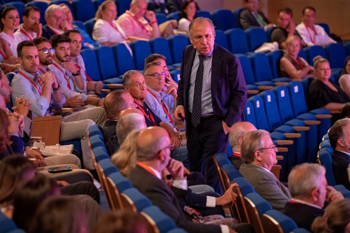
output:
<svg viewBox="0 0 350 233"><path fill-rule="evenodd" d="M227 41L231 53L233 54L245 54L248 53L249 47L246 34L241 28L231 28L225 31L227 35Z"/></svg>

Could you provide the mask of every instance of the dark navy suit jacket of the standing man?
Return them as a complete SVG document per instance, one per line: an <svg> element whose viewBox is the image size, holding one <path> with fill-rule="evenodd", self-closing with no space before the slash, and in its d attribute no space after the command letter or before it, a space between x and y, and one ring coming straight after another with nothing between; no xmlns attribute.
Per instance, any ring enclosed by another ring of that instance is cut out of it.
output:
<svg viewBox="0 0 350 233"><path fill-rule="evenodd" d="M184 49L177 96L177 105L182 105L188 112L190 79L196 49L189 45ZM247 102L247 84L238 58L231 52L215 44L211 64L211 102L216 117L221 117L227 124L234 124L243 117ZM186 127L189 129L189 124Z"/></svg>

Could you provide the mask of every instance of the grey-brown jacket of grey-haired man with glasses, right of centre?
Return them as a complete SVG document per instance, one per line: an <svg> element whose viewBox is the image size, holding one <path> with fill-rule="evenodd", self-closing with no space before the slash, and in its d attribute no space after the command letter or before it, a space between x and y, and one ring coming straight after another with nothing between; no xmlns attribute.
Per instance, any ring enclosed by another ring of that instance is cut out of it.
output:
<svg viewBox="0 0 350 233"><path fill-rule="evenodd" d="M283 210L291 199L291 194L277 178L262 167L253 164L243 164L240 173L254 187L255 191L270 202L273 209Z"/></svg>

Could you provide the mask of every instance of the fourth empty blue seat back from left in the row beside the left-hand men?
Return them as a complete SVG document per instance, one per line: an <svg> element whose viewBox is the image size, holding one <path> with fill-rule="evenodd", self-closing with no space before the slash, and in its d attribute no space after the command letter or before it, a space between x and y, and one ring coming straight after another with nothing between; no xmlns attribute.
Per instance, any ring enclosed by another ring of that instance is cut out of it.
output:
<svg viewBox="0 0 350 233"><path fill-rule="evenodd" d="M150 43L147 41L133 41L130 43L130 48L133 50L136 69L143 70L145 59L151 54Z"/></svg>

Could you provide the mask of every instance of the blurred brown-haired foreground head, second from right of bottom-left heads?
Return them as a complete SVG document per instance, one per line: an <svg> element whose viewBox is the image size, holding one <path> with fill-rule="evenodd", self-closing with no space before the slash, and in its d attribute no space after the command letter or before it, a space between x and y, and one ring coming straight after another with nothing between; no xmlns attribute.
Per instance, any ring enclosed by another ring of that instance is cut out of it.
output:
<svg viewBox="0 0 350 233"><path fill-rule="evenodd" d="M38 207L29 233L83 233L88 227L86 208L69 197L50 197Z"/></svg>

